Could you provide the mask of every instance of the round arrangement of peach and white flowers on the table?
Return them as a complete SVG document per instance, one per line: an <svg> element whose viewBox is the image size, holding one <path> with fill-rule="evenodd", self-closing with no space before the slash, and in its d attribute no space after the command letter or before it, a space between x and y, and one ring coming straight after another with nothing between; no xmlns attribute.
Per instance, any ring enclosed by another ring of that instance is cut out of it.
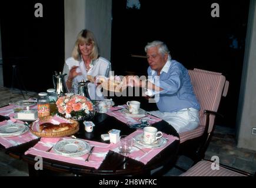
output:
<svg viewBox="0 0 256 188"><path fill-rule="evenodd" d="M94 116L95 110L91 100L81 95L67 95L56 101L58 112L65 118L75 120L88 119Z"/></svg>

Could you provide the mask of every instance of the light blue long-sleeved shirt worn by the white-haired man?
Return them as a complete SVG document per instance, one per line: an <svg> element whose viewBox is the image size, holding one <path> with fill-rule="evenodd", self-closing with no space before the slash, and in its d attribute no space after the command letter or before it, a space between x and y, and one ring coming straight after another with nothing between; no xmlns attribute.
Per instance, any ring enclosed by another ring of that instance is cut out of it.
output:
<svg viewBox="0 0 256 188"><path fill-rule="evenodd" d="M148 75L159 88L157 107L160 112L177 112L185 108L200 110L200 104L195 97L188 70L181 63L168 60L157 76L157 72L149 66Z"/></svg>

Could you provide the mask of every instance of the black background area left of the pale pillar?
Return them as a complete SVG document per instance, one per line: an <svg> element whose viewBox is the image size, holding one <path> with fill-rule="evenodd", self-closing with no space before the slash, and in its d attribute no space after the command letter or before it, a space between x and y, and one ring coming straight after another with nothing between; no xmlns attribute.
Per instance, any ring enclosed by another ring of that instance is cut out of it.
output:
<svg viewBox="0 0 256 188"><path fill-rule="evenodd" d="M43 5L43 17L36 18L36 3ZM1 37L4 85L12 86L12 65L18 80L14 87L35 92L53 88L54 70L65 61L64 1L1 1Z"/></svg>

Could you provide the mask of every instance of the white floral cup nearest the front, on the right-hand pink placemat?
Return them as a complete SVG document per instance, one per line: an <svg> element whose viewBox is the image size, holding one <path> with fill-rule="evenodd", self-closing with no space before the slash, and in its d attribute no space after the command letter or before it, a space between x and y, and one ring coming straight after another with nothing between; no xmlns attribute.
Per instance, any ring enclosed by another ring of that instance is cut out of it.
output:
<svg viewBox="0 0 256 188"><path fill-rule="evenodd" d="M155 127L144 127L143 129L143 142L154 143L157 139L162 137L162 132L157 131Z"/></svg>

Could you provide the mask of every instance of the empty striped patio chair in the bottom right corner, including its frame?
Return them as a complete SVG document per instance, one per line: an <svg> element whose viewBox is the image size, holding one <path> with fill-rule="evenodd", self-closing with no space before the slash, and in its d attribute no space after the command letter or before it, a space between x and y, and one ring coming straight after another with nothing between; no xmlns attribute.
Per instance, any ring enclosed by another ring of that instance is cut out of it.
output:
<svg viewBox="0 0 256 188"><path fill-rule="evenodd" d="M218 168L217 168L218 167ZM187 172L179 176L253 176L250 173L232 167L220 164L217 166L215 162L210 160L201 160ZM254 175L255 176L255 175Z"/></svg>

